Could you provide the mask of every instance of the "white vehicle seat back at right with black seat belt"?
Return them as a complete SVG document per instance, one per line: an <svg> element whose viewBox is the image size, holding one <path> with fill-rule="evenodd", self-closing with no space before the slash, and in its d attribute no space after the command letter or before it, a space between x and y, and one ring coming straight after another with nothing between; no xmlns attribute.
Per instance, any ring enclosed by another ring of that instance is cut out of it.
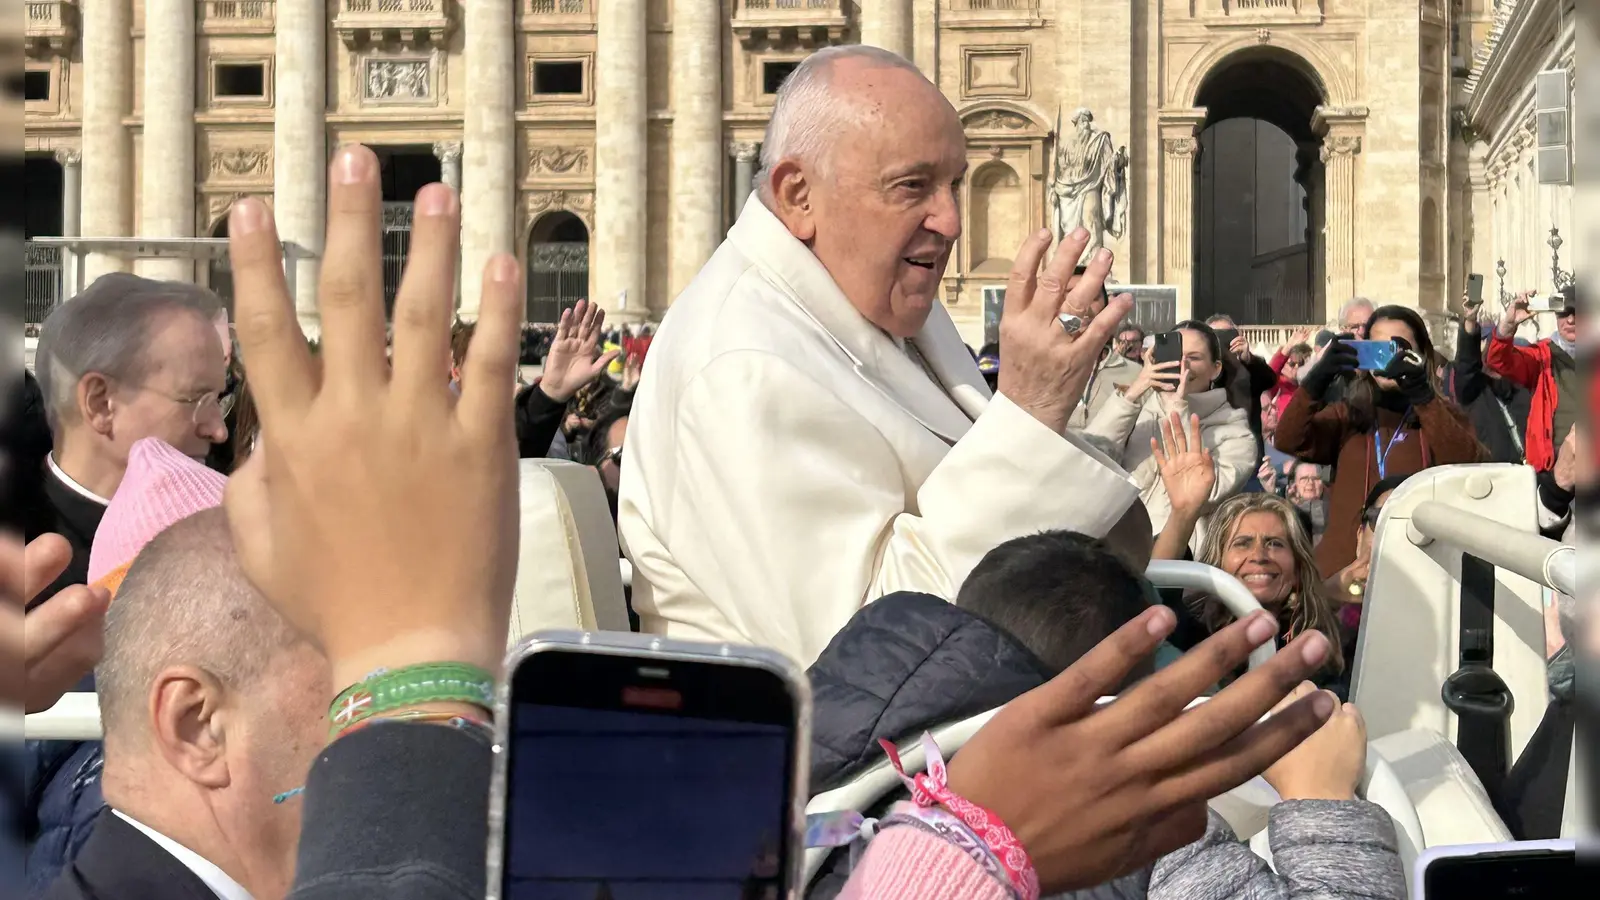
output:
<svg viewBox="0 0 1600 900"><path fill-rule="evenodd" d="M1534 474L1528 466L1426 469L1389 498L1378 524L1350 681L1350 701L1366 717L1371 738L1413 729L1451 741L1456 737L1456 716L1445 708L1440 690L1458 668L1461 549L1422 541L1411 512L1426 501L1538 533ZM1494 671L1515 697L1512 759L1522 754L1546 708L1541 607L1539 585L1506 569L1496 572Z"/></svg>

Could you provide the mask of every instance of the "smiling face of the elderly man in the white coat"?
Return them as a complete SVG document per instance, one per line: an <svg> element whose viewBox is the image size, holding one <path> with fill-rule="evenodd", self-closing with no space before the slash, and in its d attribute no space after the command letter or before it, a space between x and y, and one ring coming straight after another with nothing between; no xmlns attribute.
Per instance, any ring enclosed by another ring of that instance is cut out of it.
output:
<svg viewBox="0 0 1600 900"><path fill-rule="evenodd" d="M859 115L832 136L826 170L803 173L803 194L778 187L779 216L869 322L910 338L938 303L962 235L966 136L917 72L842 61L832 78Z"/></svg>

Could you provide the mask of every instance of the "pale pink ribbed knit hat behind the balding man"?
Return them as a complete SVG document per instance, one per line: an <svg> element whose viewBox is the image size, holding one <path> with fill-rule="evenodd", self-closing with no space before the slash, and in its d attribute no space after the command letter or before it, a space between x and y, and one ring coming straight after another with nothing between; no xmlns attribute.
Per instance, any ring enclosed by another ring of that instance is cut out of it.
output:
<svg viewBox="0 0 1600 900"><path fill-rule="evenodd" d="M222 504L227 477L146 437L128 450L128 471L106 508L90 548L90 585L122 585L133 557L170 525Z"/></svg>

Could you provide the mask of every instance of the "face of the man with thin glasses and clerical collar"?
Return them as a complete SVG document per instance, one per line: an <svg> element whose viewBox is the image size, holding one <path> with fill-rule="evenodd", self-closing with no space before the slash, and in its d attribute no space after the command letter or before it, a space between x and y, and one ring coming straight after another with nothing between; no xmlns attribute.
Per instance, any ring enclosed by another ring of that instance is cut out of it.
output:
<svg viewBox="0 0 1600 900"><path fill-rule="evenodd" d="M152 362L144 380L114 384L112 445L126 458L136 440L158 437L203 460L211 444L227 440L219 402L227 389L227 364L216 328L200 315L165 315L144 352Z"/></svg>

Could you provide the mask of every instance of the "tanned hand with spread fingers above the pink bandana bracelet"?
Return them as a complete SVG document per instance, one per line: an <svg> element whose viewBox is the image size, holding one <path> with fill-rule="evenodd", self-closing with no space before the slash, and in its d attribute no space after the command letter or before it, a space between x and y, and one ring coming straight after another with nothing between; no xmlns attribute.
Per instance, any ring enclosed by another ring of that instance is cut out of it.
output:
<svg viewBox="0 0 1600 900"><path fill-rule="evenodd" d="M1046 895L1101 884L1195 841L1208 799L1266 770L1338 706L1318 690L1259 721L1326 660L1328 639L1314 631L1184 711L1272 641L1277 621L1261 612L1096 711L1096 698L1115 692L1174 626L1166 607L1147 610L1008 703L949 764L950 790L1011 828Z"/></svg>

